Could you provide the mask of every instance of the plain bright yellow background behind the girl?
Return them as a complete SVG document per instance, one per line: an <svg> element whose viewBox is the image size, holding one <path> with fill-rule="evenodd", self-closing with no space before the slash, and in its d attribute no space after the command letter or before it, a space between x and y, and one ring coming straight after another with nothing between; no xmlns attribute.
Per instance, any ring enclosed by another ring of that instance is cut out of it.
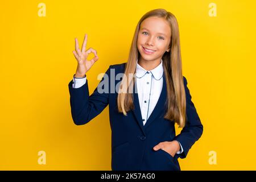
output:
<svg viewBox="0 0 256 182"><path fill-rule="evenodd" d="M46 16L38 16L39 3ZM217 5L210 17L209 3ZM202 137L181 170L255 170L254 1L5 1L0 28L0 169L111 170L108 107L86 125L71 117L68 83L75 37L100 59L87 73L90 94L110 64L127 61L135 26L149 10L172 12L180 28L183 75ZM89 58L92 58L90 55ZM177 125L176 125L177 129ZM176 134L180 133L180 129ZM38 152L46 164L38 164ZM209 164L209 152L217 164Z"/></svg>

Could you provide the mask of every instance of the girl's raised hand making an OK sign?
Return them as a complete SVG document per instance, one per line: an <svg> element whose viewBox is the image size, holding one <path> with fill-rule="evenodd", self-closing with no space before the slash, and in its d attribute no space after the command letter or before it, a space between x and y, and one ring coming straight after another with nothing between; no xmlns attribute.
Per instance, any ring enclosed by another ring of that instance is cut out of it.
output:
<svg viewBox="0 0 256 182"><path fill-rule="evenodd" d="M79 49L79 43L77 38L75 38L75 49L73 51L74 56L77 60L77 69L76 69L76 76L84 76L86 72L92 67L92 65L98 60L97 51L93 48L89 48L85 51L87 43L87 34L84 36L84 42L82 43L82 49ZM93 52L94 57L91 60L87 60L88 55Z"/></svg>

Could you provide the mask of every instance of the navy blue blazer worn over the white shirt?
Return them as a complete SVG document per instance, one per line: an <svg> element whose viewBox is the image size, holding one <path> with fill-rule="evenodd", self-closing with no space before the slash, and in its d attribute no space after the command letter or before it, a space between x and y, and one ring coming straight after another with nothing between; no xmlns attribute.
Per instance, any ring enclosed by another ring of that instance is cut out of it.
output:
<svg viewBox="0 0 256 182"><path fill-rule="evenodd" d="M125 72L125 64L110 65L106 71L106 74L109 76L109 85L110 80L112 80L110 79L110 69L114 69L115 74L113 76L115 76L118 73ZM102 77L100 82L103 80L104 77ZM72 81L69 82L68 88L72 119L76 125L88 123L109 105L109 119L112 130L112 170L180 171L180 165L177 159L185 158L189 149L203 134L203 125L191 101L187 79L184 76L187 123L177 136L175 134L174 122L163 118L166 111L164 102L167 97L166 78L164 74L162 92L155 109L152 111L145 125L143 125L142 121L138 93L133 92L135 109L128 111L127 116L125 116L122 113L118 113L117 92L110 93L109 90L108 93L99 93L96 88L89 96L88 80L80 88L72 88ZM115 80L115 85L118 82L120 80ZM153 147L156 144L172 140L180 142L184 150L181 154L175 154L172 157L162 149L154 151Z"/></svg>

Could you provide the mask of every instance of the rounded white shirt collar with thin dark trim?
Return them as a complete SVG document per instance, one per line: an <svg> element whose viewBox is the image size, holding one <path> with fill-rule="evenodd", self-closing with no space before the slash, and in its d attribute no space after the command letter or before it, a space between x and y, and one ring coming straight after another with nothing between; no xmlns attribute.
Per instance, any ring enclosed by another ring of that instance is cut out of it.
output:
<svg viewBox="0 0 256 182"><path fill-rule="evenodd" d="M136 75L137 78L141 78L144 75L146 75L147 72L151 72L153 77L156 80L159 80L163 76L163 60L161 59L161 63L152 69L151 71L147 71L146 69L142 68L141 65L138 64L138 59L136 60L137 66L136 66Z"/></svg>

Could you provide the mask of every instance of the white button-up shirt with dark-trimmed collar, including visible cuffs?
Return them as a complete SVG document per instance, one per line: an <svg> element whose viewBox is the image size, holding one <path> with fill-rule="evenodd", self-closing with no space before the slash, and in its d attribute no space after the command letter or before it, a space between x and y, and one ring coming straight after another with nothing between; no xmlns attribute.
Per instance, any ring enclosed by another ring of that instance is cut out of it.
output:
<svg viewBox="0 0 256 182"><path fill-rule="evenodd" d="M138 64L136 60L136 84L139 98L139 106L141 108L143 125L147 122L150 114L154 110L156 103L160 97L163 88L163 60L151 71L147 71ZM80 88L86 83L86 77L74 78L72 88ZM180 144L180 142L179 142ZM176 154L181 154L183 148L180 144L180 151Z"/></svg>

